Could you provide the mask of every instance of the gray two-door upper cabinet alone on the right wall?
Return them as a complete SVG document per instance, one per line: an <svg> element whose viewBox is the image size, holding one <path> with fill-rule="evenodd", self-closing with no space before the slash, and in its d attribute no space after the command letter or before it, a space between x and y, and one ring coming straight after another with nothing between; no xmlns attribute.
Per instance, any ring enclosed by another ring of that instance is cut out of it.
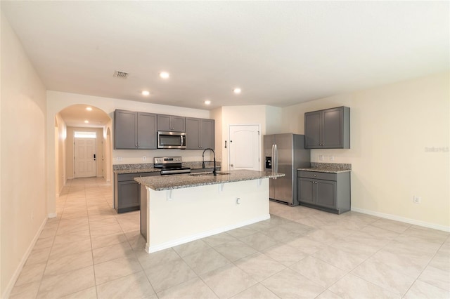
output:
<svg viewBox="0 0 450 299"><path fill-rule="evenodd" d="M350 108L336 107L305 113L304 148L349 149Z"/></svg>

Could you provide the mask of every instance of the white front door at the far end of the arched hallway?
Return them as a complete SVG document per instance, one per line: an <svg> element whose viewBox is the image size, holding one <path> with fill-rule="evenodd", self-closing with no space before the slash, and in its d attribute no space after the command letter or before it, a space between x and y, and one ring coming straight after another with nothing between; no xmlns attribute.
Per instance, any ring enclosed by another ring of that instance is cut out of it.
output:
<svg viewBox="0 0 450 299"><path fill-rule="evenodd" d="M96 138L75 138L75 178L96 176Z"/></svg>

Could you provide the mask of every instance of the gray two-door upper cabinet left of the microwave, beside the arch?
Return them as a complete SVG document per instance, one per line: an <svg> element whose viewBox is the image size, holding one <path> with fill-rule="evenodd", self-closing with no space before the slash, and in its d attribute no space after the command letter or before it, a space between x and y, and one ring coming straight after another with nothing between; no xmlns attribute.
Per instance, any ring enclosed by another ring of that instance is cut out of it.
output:
<svg viewBox="0 0 450 299"><path fill-rule="evenodd" d="M156 114L117 109L114 116L116 150L156 149Z"/></svg>

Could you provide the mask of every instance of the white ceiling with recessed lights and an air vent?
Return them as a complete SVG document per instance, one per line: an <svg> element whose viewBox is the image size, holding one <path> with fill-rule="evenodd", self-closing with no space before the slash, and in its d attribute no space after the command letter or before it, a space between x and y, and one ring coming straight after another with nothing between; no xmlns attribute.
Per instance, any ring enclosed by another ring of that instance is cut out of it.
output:
<svg viewBox="0 0 450 299"><path fill-rule="evenodd" d="M1 1L1 10L53 91L285 107L449 70L449 1Z"/></svg>

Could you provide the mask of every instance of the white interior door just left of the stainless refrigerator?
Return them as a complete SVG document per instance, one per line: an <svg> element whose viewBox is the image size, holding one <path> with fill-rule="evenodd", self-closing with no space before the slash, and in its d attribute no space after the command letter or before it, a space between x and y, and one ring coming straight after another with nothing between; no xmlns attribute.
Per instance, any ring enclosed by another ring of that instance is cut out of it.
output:
<svg viewBox="0 0 450 299"><path fill-rule="evenodd" d="M259 171L261 152L259 125L231 125L229 142L229 169Z"/></svg>

